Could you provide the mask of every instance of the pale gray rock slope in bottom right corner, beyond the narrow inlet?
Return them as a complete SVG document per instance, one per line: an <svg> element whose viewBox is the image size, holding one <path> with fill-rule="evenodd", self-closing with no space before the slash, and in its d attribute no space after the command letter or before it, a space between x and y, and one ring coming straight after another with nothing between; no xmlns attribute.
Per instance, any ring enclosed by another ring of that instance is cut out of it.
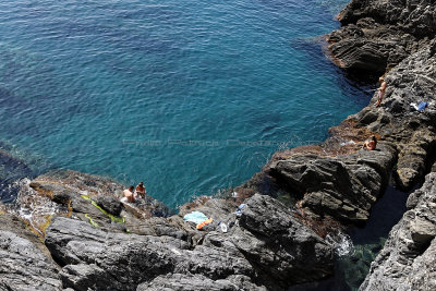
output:
<svg viewBox="0 0 436 291"><path fill-rule="evenodd" d="M409 198L360 290L435 290L436 172ZM413 202L412 202L413 201Z"/></svg>

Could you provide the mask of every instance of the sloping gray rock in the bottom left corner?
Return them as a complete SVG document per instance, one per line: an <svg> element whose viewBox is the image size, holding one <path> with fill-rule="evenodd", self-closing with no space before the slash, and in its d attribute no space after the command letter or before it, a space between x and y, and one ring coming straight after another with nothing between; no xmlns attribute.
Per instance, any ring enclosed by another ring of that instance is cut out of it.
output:
<svg viewBox="0 0 436 291"><path fill-rule="evenodd" d="M0 289L62 290L48 250L17 217L0 207Z"/></svg>

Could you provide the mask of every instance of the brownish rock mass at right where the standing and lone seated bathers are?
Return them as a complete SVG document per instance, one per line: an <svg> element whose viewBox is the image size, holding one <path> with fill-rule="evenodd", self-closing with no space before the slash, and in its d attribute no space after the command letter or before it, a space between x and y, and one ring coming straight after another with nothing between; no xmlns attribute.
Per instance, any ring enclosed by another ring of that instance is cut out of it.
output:
<svg viewBox="0 0 436 291"><path fill-rule="evenodd" d="M263 178L245 184L265 194L287 191L306 220L334 219L363 223L390 174L401 190L423 179L436 149L436 41L405 58L386 74L388 87L379 107L370 105L330 129L319 145L276 153ZM422 112L411 104L426 101ZM378 138L376 150L362 149L365 138Z"/></svg>

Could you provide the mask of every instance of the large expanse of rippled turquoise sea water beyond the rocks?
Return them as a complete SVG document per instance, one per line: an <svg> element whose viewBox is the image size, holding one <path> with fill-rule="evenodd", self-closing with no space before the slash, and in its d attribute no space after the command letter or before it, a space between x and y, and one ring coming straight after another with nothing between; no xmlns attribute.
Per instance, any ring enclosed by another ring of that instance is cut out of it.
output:
<svg viewBox="0 0 436 291"><path fill-rule="evenodd" d="M235 186L367 105L322 53L346 2L1 1L0 140L171 207Z"/></svg>

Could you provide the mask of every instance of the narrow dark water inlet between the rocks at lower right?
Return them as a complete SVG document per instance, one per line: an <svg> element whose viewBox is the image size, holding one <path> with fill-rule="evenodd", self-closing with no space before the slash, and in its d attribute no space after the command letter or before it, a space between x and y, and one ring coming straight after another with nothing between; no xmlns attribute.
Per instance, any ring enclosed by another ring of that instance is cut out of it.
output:
<svg viewBox="0 0 436 291"><path fill-rule="evenodd" d="M370 271L371 263L385 245L390 230L405 213L409 194L388 185L371 209L366 225L341 233L340 245L336 245L334 277L293 286L288 291L358 291Z"/></svg>

